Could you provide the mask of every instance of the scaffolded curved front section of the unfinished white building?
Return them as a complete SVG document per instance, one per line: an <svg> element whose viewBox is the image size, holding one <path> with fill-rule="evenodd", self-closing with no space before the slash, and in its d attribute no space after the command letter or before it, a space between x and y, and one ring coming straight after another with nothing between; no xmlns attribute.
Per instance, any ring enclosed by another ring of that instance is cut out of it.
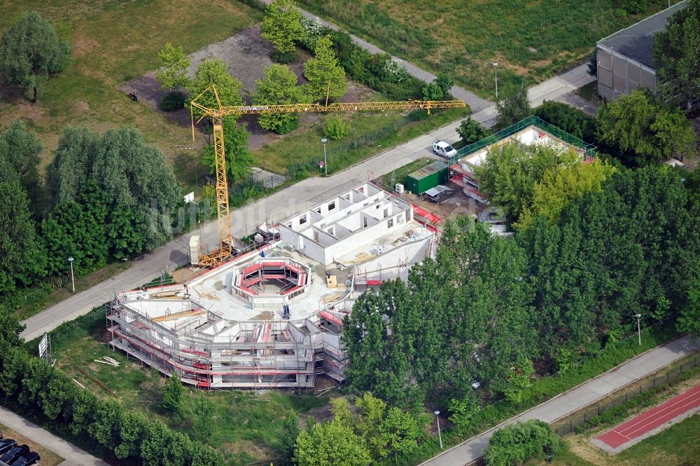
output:
<svg viewBox="0 0 700 466"><path fill-rule="evenodd" d="M230 322L195 301L172 300L172 312L149 317L143 293L117 294L106 314L109 345L183 383L202 389L313 388L316 376L344 381L342 314L302 322Z"/></svg>

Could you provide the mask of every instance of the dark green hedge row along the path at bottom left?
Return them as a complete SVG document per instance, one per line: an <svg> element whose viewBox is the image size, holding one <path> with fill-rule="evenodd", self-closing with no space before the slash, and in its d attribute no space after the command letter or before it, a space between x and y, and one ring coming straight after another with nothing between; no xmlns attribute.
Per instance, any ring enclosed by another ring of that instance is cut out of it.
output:
<svg viewBox="0 0 700 466"><path fill-rule="evenodd" d="M7 348L5 341L0 342L3 347ZM16 345L0 354L0 400L122 464L224 464L221 453L211 446L190 440L160 420L125 409L116 399L97 399L90 390L80 390L63 371Z"/></svg>

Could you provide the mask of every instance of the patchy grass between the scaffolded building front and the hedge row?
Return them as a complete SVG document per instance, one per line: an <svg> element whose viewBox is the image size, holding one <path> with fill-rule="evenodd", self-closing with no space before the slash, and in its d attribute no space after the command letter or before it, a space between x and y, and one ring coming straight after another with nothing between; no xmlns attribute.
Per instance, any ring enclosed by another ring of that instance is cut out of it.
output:
<svg viewBox="0 0 700 466"><path fill-rule="evenodd" d="M313 391L295 394L288 390L197 392L188 389L182 418L165 413L158 409L159 395L155 389L162 389L164 379L153 377L151 371L137 360L107 348L104 317L97 319L94 325L91 319L87 321L58 337L52 336L57 366L98 397L116 397L125 406L137 409L149 418L160 418L170 427L190 434L193 439L206 441L225 455L228 465L247 465L263 460L266 460L265 464L273 462L281 446L285 414L297 411L300 417L304 417L310 409L328 403L327 397L316 397ZM121 365L114 367L94 362L103 356L112 357ZM199 399L210 402L214 409L211 423L216 427L206 438L197 432L193 420Z"/></svg>

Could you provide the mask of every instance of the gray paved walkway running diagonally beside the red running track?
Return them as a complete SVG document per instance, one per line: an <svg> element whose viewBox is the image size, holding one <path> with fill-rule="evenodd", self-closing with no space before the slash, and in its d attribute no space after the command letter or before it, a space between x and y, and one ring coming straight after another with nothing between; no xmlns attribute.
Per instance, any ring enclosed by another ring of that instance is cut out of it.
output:
<svg viewBox="0 0 700 466"><path fill-rule="evenodd" d="M440 455L421 463L421 466L464 466L480 458L484 448L489 445L493 431L504 425L520 420L540 419L545 423L553 423L584 406L596 402L610 393L623 388L652 372L663 369L678 359L700 349L700 339L688 336L649 350L624 364L615 367L605 374L578 385L568 392L550 399L535 408L511 418L505 423L493 427L482 434L444 451Z"/></svg>

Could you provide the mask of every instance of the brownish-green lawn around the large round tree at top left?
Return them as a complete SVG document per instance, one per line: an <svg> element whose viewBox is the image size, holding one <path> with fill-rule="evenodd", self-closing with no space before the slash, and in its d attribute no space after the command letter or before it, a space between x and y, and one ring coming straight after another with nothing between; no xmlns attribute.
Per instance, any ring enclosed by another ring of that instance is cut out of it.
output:
<svg viewBox="0 0 700 466"><path fill-rule="evenodd" d="M167 41L190 53L262 18L259 11L235 0L206 5L193 0L13 0L0 2L0 34L29 9L68 25L73 43L73 62L43 85L37 104L0 94L0 126L25 120L44 146L42 166L66 125L87 125L99 132L134 126L176 166L192 166L193 149L179 149L193 146L190 129L132 102L116 86L155 69L158 50ZM178 174L188 184L181 170Z"/></svg>

